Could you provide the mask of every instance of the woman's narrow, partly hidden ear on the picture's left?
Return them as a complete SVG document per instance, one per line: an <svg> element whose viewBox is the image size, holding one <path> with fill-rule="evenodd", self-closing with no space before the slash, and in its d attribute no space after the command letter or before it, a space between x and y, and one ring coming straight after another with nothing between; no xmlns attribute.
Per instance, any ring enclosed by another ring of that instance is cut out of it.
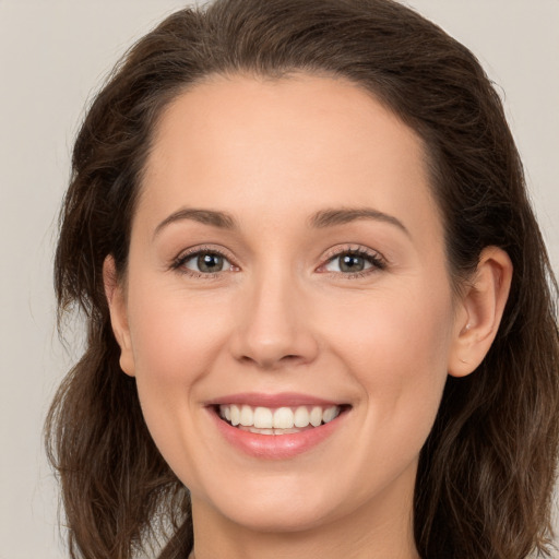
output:
<svg viewBox="0 0 559 559"><path fill-rule="evenodd" d="M103 262L103 283L110 312L112 332L120 346L120 368L130 377L134 376L134 357L128 326L126 293L118 281L115 259L109 254Z"/></svg>

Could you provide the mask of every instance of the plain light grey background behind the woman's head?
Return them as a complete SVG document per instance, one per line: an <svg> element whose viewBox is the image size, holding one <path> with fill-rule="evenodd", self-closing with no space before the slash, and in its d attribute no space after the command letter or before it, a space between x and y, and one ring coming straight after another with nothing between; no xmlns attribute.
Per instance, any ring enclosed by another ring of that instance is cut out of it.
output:
<svg viewBox="0 0 559 559"><path fill-rule="evenodd" d="M0 559L64 557L41 424L78 354L57 340L51 288L78 123L123 50L185 3L0 0ZM466 44L499 85L558 271L559 0L409 3Z"/></svg>

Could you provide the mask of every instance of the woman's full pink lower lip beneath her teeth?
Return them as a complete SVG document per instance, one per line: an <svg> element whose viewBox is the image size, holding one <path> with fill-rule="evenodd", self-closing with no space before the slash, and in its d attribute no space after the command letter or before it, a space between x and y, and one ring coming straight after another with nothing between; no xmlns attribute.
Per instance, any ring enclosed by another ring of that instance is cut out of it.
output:
<svg viewBox="0 0 559 559"><path fill-rule="evenodd" d="M289 435L259 435L243 431L224 421L215 408L207 408L225 440L250 456L265 460L287 460L317 447L328 439L343 423L346 411L328 424Z"/></svg>

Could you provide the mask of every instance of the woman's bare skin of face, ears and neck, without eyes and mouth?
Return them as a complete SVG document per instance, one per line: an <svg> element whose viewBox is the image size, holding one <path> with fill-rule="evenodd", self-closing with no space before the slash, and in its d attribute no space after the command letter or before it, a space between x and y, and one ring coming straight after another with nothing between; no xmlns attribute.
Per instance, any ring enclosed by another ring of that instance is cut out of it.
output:
<svg viewBox="0 0 559 559"><path fill-rule="evenodd" d="M236 226L168 219L185 209ZM384 217L312 225L340 209ZM197 559L418 557L418 454L447 376L471 373L489 348L512 273L488 248L457 297L443 235L421 141L348 82L215 76L167 108L126 280L109 257L105 282L121 367L192 493ZM223 252L225 267L174 266L189 249ZM344 272L348 249L382 265ZM270 461L210 418L205 403L239 392L352 407L322 443Z"/></svg>

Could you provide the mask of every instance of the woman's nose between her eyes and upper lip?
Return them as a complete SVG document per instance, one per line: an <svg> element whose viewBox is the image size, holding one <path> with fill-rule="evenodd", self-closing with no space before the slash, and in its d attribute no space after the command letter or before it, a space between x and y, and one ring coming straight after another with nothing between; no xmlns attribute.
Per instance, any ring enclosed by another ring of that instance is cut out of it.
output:
<svg viewBox="0 0 559 559"><path fill-rule="evenodd" d="M317 358L309 298L289 274L270 273L246 286L238 300L231 349L237 360L265 370Z"/></svg>

